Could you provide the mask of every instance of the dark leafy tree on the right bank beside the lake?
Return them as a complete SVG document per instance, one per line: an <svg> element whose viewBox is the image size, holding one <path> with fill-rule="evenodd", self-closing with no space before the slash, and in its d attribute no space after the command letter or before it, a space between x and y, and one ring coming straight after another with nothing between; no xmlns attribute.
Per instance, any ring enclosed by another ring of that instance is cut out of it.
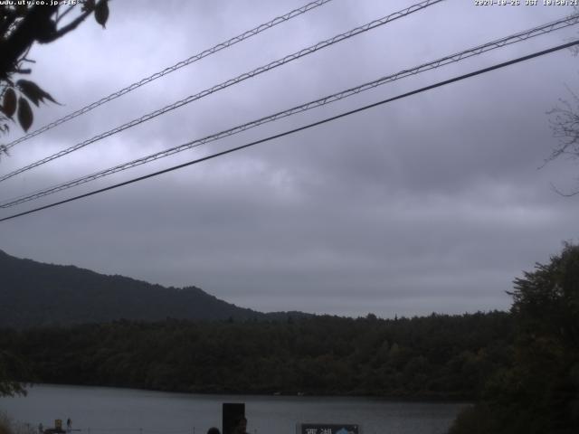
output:
<svg viewBox="0 0 579 434"><path fill-rule="evenodd" d="M579 246L515 280L513 365L490 376L453 434L488 420L496 433L574 433L579 426ZM490 431L489 431L490 432Z"/></svg>

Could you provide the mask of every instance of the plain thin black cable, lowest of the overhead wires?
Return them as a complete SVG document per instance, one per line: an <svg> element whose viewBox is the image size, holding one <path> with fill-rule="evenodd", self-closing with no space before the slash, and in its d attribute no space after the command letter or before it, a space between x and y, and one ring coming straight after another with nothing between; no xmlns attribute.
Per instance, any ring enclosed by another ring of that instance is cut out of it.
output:
<svg viewBox="0 0 579 434"><path fill-rule="evenodd" d="M145 180L145 179L152 178L152 177L157 176L157 175L163 175L163 174L166 174L166 173L168 173L168 172L173 172L174 170L181 169L181 168L186 167L186 166L188 166L188 165L195 165L195 164L197 164L197 163L201 163L201 162L206 161L206 160L211 160L211 159L213 159L213 158L215 158L215 157L217 157L217 156L224 156L224 155L226 155L226 154L231 154L231 153L233 153L233 152L235 152L235 151L240 151L240 150L245 149L245 148L250 147L250 146L259 145L259 144L261 144L261 143L268 142L268 141L273 140L273 139L276 139L276 138L280 138L280 137L284 137L284 136L289 136L290 134L294 134L294 133L297 133L297 132L299 132L299 131L303 131L303 130L305 130L305 129L311 128L311 127L317 127L318 125L326 124L327 122L331 122L331 121L337 120L337 119L339 119L339 118L345 118L346 116L353 115L353 114L358 113L358 112L360 112L360 111L364 111L364 110L367 110L367 109L373 109L373 108L375 108L375 107L384 105L384 104L386 104L386 103L388 103L388 102L392 102L392 101L394 101L394 100L396 100L396 99L407 98L407 97L410 97L410 96L412 96L412 95L416 95L416 94L418 94L418 93L422 93L422 92L424 92L424 91L426 91L426 90L432 90L432 89L435 89L435 88L439 88L439 87L441 87L441 86L445 86L445 85L447 85L447 84L451 84L451 83L453 83L453 82L455 82L455 81L465 80L465 79L468 79L468 78L470 78L470 77L474 77L474 76L477 76L477 75L480 75L480 74L484 74L484 73L487 73L487 72L490 72L490 71L498 70L499 68L505 68L505 67L507 67L507 66L509 66L509 65L513 65L513 64L518 63L518 62L521 62L521 61L528 61L528 60L530 60L530 59L534 59L534 58L536 58L536 57L543 56L543 55L548 54L548 53L551 53L551 52L557 52L557 51L560 51L560 50L564 50L565 48L573 47L574 45L577 45L577 44L579 44L579 41L567 42L567 43L564 43L564 44L562 44L562 45L557 45L557 46L552 47L552 48L549 48L549 49L547 49L547 50L543 50L543 51L541 51L541 52L534 52L534 53L532 53L532 54L528 54L527 56L518 57L517 59L513 59L513 60L511 60L511 61L504 61L504 62L502 62L502 63L498 63L498 64L495 64L495 65L493 65L493 66L489 66L488 68L483 68L483 69L478 70L478 71L469 72L468 74L463 74L463 75L460 75L460 76L458 76L458 77L454 77L454 78L449 79L449 80L439 81L439 82L434 83L434 84L432 84L432 85L430 85L430 86L425 86L425 87L420 88L420 89L417 89L417 90L412 90L412 91L410 91L410 92L406 92L406 93L403 93L403 94L401 94L401 95L397 95L397 96L395 96L395 97L393 97L393 98L383 99L383 100L381 100L381 101L375 102L374 104L369 104L369 105L367 105L367 106L364 106L364 107L361 107L361 108L358 108L358 109L349 110L349 111L346 111L346 112L344 112L344 113L341 113L341 114L339 114L339 115L337 115L337 116L333 116L333 117L331 117L331 118L325 118L325 119L319 120L318 122L312 122L312 123L310 123L310 124L308 124L308 125L305 125L305 126L302 126L302 127L297 127L297 128L289 129L288 131L284 131L283 133L276 134L276 135L273 135L273 136L270 136L270 137L261 138L260 140L255 140L255 141L253 141L253 142L247 143L247 144L242 145L242 146L232 147L232 148L230 148L230 149L227 149L227 150L224 150L224 151L221 151L221 152L217 152L217 153L212 154L212 155L210 155L210 156L204 156L204 157L202 157L202 158L197 158L197 159L195 159L195 160L189 161L189 162L184 163L184 164L182 164L182 165L174 165L174 166L172 166L172 167L166 168L166 169L164 169L164 170L159 170L158 172L154 172L154 173L152 173L152 174L139 176L139 177L137 177L137 178L130 179L130 180L125 181L125 182L123 182L123 183L114 184L114 185L109 185L108 187L100 188L99 190L94 190L94 191L89 192L89 193L79 194L78 196L74 196L74 197L71 197L71 198L69 198L69 199L65 199L65 200L63 200L63 201L54 202L54 203L49 203L48 205L40 206L40 207L38 207L38 208L34 208L33 210L29 210L29 211L25 211L25 212L18 212L17 214L13 214L13 215L10 215L10 216L8 216L8 217L4 217L4 218L0 219L0 222L5 222L5 221L8 221L8 220L15 219L15 218L17 218L17 217L22 217L22 216L24 216L24 215L27 215L27 214L30 214L30 213L33 213L33 212L38 212L38 211L46 210L46 209L52 208L52 207L54 207L54 206L62 205L63 203L73 202L73 201L76 201L76 200L78 200L78 199L82 199L82 198L85 198L85 197L92 196L92 195L94 195L94 194L107 192L107 191L109 191L109 190L114 190L115 188L119 188L119 187L122 187L122 186L128 185L128 184L134 184L134 183L137 183L137 182L139 182L139 181L143 181L143 180Z"/></svg>

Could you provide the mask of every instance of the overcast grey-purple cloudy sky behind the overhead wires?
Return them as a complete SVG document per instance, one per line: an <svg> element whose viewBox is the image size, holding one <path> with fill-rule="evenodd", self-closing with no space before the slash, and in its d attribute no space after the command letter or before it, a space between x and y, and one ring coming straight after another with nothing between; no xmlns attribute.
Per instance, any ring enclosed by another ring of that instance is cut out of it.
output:
<svg viewBox="0 0 579 434"><path fill-rule="evenodd" d="M62 102L42 127L131 82L305 5L304 0L110 3L34 47L33 80ZM334 0L14 146L5 174L337 33L413 5ZM523 0L523 3L524 0ZM572 13L448 0L173 110L0 185L1 199L219 132ZM5 217L299 127L566 42L550 33L398 80L154 164L0 212ZM0 249L238 306L347 316L508 309L505 294L578 240L579 165L538 169L556 145L546 111L579 91L565 50L365 110L138 184L0 223ZM5 142L22 135L13 127Z"/></svg>

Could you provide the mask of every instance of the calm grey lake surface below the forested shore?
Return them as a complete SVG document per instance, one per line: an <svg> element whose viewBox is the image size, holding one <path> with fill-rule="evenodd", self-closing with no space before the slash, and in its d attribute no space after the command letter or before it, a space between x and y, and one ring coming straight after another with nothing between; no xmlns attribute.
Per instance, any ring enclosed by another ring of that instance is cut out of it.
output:
<svg viewBox="0 0 579 434"><path fill-rule="evenodd" d="M0 398L13 420L44 427L71 418L81 434L204 434L221 429L223 402L245 402L250 434L295 434L297 423L350 423L364 434L442 434L464 403L311 396L195 395L105 387L35 385ZM65 422L63 422L65 423Z"/></svg>

